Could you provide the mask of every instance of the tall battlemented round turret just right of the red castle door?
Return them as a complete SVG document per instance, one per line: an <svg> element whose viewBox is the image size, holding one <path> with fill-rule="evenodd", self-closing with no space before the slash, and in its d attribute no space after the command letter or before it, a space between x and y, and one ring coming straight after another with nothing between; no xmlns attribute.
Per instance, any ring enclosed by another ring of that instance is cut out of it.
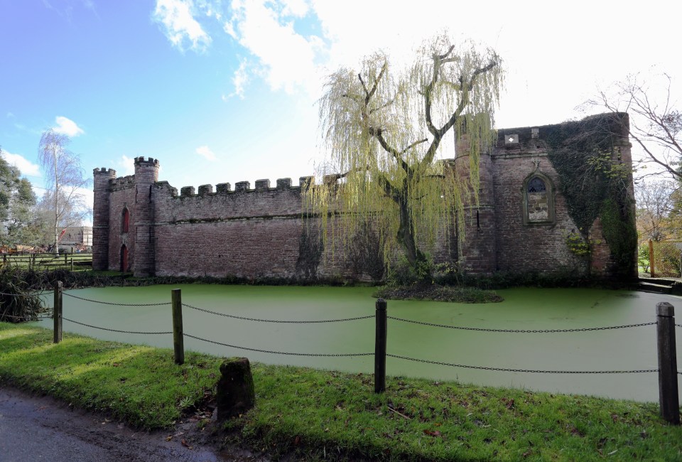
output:
<svg viewBox="0 0 682 462"><path fill-rule="evenodd" d="M156 271L153 185L158 181L158 160L135 159L135 257L133 274L153 276Z"/></svg>

